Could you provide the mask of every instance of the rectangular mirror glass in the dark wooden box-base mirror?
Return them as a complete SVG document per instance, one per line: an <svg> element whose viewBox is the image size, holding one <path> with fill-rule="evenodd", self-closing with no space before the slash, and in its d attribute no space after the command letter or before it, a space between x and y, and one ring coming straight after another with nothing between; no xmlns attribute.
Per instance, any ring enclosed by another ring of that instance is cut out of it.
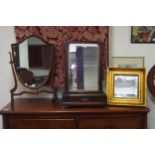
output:
<svg viewBox="0 0 155 155"><path fill-rule="evenodd" d="M68 77L69 91L98 91L99 44L69 44Z"/></svg>

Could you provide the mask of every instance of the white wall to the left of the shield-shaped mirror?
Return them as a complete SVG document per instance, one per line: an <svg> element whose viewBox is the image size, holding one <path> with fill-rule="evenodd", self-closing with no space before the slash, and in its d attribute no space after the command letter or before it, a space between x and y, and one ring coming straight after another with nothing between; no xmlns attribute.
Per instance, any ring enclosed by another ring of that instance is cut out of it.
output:
<svg viewBox="0 0 155 155"><path fill-rule="evenodd" d="M10 102L10 89L14 84L8 53L11 51L12 43L15 43L14 27L0 26L0 109ZM1 116L0 128L2 128Z"/></svg>

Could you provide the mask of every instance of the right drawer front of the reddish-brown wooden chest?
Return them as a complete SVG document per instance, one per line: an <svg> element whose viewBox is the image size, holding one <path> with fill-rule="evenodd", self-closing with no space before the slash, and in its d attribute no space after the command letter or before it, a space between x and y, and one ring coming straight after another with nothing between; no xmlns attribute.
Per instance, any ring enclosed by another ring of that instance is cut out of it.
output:
<svg viewBox="0 0 155 155"><path fill-rule="evenodd" d="M83 118L79 121L82 129L140 129L145 128L144 119L136 116L113 116L104 118Z"/></svg>

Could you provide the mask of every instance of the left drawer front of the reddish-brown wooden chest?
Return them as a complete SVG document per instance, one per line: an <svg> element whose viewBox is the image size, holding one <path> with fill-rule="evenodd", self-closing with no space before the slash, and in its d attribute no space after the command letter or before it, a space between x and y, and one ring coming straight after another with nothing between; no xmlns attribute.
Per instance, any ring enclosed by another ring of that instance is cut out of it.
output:
<svg viewBox="0 0 155 155"><path fill-rule="evenodd" d="M15 129L73 129L74 119L9 119L9 128Z"/></svg>

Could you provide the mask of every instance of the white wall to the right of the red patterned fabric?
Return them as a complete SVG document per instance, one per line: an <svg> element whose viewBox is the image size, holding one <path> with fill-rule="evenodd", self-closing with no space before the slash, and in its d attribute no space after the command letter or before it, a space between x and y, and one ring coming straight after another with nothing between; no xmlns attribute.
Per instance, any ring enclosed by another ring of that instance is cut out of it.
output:
<svg viewBox="0 0 155 155"><path fill-rule="evenodd" d="M131 27L109 28L109 62L111 56L144 56L147 72L155 64L155 44L131 44ZM147 91L148 128L155 128L155 99Z"/></svg>

